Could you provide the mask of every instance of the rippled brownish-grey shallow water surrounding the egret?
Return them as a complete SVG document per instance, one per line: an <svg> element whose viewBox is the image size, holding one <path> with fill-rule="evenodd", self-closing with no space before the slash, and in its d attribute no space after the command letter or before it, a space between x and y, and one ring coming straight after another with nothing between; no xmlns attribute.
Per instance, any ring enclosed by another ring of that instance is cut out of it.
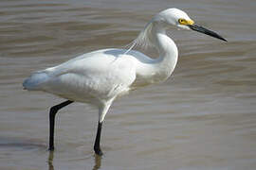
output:
<svg viewBox="0 0 256 170"><path fill-rule="evenodd" d="M62 102L28 93L33 71L85 52L123 47L164 8L182 8L221 42L170 30L179 60L165 83L117 100L94 156L97 110L72 104L47 151L48 109ZM256 3L76 0L0 2L0 169L256 169Z"/></svg>

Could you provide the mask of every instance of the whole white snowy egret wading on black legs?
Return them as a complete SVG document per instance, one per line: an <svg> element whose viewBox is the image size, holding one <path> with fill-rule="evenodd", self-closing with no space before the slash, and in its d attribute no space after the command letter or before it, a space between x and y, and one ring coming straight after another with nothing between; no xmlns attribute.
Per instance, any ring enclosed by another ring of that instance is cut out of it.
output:
<svg viewBox="0 0 256 170"><path fill-rule="evenodd" d="M166 35L170 26L195 30L226 41L215 32L194 24L184 11L168 8L152 18L130 49L110 48L86 53L58 66L35 72L24 81L23 86L28 91L53 93L66 99L49 111L49 150L54 149L57 111L76 101L99 108L94 150L102 155L101 127L112 102L131 90L164 81L173 73L178 50L174 41ZM151 59L133 50L137 44L154 46L159 57Z"/></svg>

